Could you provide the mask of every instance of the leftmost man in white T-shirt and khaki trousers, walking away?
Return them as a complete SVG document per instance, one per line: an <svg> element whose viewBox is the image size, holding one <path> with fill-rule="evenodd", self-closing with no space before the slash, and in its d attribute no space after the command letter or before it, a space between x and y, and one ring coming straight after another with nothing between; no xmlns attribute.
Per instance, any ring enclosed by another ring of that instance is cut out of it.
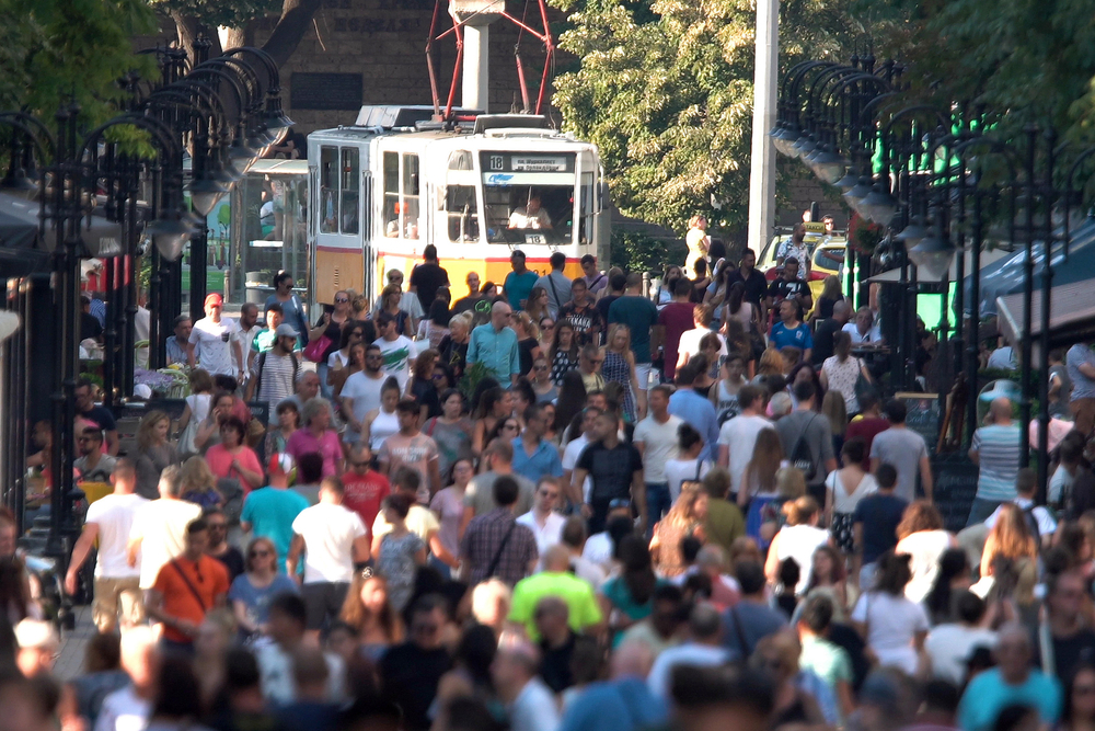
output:
<svg viewBox="0 0 1095 731"><path fill-rule="evenodd" d="M119 457L114 465L111 483L114 484L114 492L88 506L83 532L72 548L72 558L65 575L65 591L69 595L76 594L80 569L97 538L95 601L91 614L101 632L114 631L119 606L125 627L139 624L145 614L140 595L140 568L130 567L126 561L126 546L137 511L148 501L134 494L137 488L137 468L126 457Z"/></svg>

